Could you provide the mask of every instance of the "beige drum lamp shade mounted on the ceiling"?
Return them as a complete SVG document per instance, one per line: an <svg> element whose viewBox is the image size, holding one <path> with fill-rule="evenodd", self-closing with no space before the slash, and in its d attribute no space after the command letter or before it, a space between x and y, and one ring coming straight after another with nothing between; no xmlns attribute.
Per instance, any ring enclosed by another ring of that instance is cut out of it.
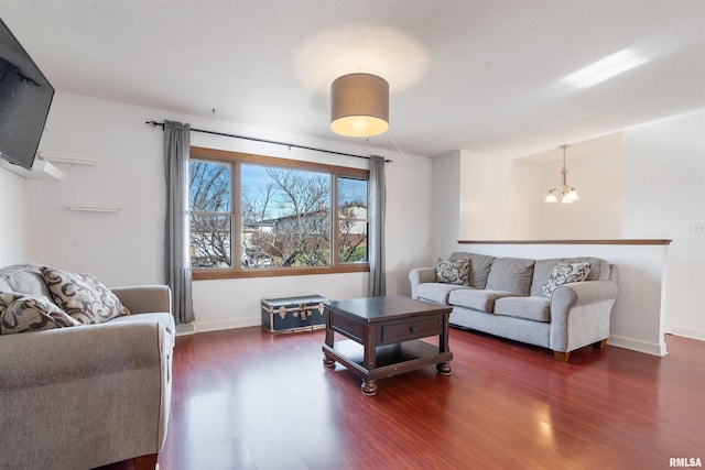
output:
<svg viewBox="0 0 705 470"><path fill-rule="evenodd" d="M371 74L348 74L330 85L330 129L365 138L389 129L389 84Z"/></svg>

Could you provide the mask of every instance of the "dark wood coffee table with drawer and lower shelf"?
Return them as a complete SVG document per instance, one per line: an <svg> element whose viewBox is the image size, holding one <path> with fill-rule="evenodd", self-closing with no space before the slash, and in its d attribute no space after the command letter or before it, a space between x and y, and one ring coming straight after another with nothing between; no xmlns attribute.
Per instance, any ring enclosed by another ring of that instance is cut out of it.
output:
<svg viewBox="0 0 705 470"><path fill-rule="evenodd" d="M408 297L366 297L325 303L326 367L336 361L362 379L362 393L375 395L377 381L427 365L449 375L452 308ZM335 334L348 340L335 341ZM421 338L437 336L438 346ZM361 346L360 346L361 345Z"/></svg>

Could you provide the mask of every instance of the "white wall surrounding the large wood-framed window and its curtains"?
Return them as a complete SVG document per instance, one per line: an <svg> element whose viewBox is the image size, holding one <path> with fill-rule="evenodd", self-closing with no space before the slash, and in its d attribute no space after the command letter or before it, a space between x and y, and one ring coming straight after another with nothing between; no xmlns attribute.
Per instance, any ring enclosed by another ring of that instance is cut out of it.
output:
<svg viewBox="0 0 705 470"><path fill-rule="evenodd" d="M108 285L163 283L163 132L144 123L163 119L352 154L377 153L392 160L386 167L387 286L389 294L410 294L409 269L426 258L431 214L427 159L62 92L54 98L48 117L52 130L45 132L40 149L88 154L97 164L62 165L67 177L61 183L24 181L0 168L0 217L18 220L20 227L10 229L3 223L0 229L2 265L40 260L69 271L93 272ZM192 132L192 144L367 167L362 159L198 132ZM68 210L77 200L116 206L120 211ZM41 219L43 227L30 228L28 218ZM25 238L36 231L41 243L28 245ZM194 283L195 329L259 325L261 298L314 293L330 298L366 295L367 274L198 281Z"/></svg>

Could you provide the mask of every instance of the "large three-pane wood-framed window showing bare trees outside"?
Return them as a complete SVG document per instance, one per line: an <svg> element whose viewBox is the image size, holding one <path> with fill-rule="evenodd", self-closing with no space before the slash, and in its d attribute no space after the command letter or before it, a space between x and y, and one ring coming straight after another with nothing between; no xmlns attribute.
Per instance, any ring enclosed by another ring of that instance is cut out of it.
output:
<svg viewBox="0 0 705 470"><path fill-rule="evenodd" d="M369 271L368 175L192 147L194 278Z"/></svg>

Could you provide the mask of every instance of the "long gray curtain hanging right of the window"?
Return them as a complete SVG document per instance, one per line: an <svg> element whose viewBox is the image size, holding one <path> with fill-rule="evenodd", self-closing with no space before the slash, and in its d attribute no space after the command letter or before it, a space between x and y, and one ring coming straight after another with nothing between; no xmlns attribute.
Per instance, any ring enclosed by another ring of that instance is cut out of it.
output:
<svg viewBox="0 0 705 470"><path fill-rule="evenodd" d="M384 282L384 219L387 217L387 188L384 186L384 159L370 156L370 181L368 201L370 228L368 252L370 263L369 295L387 294Z"/></svg>

